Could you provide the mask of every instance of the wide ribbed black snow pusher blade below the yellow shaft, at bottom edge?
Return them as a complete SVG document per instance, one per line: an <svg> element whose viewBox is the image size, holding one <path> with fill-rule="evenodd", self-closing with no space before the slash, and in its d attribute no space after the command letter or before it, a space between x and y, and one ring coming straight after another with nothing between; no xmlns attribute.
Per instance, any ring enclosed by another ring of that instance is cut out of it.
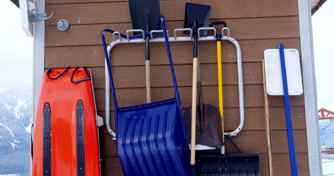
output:
<svg viewBox="0 0 334 176"><path fill-rule="evenodd" d="M197 156L195 175L259 176L259 157L258 153Z"/></svg>

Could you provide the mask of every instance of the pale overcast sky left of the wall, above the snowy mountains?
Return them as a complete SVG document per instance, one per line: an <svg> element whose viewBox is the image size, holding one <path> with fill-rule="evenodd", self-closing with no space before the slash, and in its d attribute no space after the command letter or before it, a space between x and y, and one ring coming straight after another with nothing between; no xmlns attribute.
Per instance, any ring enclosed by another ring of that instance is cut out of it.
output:
<svg viewBox="0 0 334 176"><path fill-rule="evenodd" d="M1 1L0 92L32 85L32 37L21 27L20 9L11 1Z"/></svg>

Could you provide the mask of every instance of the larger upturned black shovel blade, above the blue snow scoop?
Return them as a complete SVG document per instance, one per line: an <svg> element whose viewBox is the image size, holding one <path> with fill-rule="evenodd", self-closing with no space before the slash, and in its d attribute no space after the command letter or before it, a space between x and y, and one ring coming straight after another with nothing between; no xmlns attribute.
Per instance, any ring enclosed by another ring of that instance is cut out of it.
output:
<svg viewBox="0 0 334 176"><path fill-rule="evenodd" d="M156 29L160 17L160 0L128 0L128 5L133 29L142 29L144 32ZM141 32L134 32L134 35L138 34ZM153 36L161 37L162 33Z"/></svg>

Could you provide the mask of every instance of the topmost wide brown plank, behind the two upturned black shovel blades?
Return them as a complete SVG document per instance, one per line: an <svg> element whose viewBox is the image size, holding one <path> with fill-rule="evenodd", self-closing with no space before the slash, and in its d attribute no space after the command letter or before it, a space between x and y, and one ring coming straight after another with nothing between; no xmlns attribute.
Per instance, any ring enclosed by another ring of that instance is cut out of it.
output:
<svg viewBox="0 0 334 176"><path fill-rule="evenodd" d="M185 2L195 2L212 6L210 19L250 18L298 15L297 1L252 1L228 0L169 0L161 1L161 15L165 20L184 20ZM70 1L66 3L71 3ZM46 4L47 16L52 18L45 25L55 26L60 19L66 19L69 24L99 24L131 22L127 1L75 3L75 4ZM227 23L228 24L228 23Z"/></svg>

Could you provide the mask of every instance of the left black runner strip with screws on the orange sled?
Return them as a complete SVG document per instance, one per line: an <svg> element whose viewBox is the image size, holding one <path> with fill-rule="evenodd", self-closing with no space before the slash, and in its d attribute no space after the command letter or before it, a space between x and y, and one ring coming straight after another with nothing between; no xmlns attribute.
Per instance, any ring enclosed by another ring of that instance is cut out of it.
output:
<svg viewBox="0 0 334 176"><path fill-rule="evenodd" d="M50 104L43 108L43 176L51 175L51 110Z"/></svg>

